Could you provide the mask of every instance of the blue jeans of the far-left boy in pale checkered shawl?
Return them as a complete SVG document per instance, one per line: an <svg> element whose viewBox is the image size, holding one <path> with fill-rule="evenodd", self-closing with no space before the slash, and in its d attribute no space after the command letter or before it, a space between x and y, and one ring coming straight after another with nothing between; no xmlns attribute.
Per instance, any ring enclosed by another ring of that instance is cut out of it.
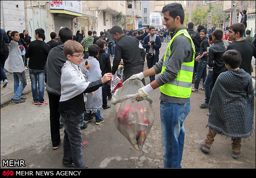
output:
<svg viewBox="0 0 256 178"><path fill-rule="evenodd" d="M25 86L27 85L27 79L25 71L23 72L13 72L13 78L14 78L14 96L13 99L19 99L21 98L22 92L25 89ZM21 83L19 83L19 81Z"/></svg>

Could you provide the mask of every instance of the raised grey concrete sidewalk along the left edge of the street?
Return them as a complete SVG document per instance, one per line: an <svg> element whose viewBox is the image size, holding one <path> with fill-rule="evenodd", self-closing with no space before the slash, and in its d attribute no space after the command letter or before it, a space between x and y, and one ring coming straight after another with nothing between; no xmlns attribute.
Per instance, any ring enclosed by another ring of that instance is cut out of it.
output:
<svg viewBox="0 0 256 178"><path fill-rule="evenodd" d="M13 83L14 83L14 79L13 79L13 74L6 71L5 69L3 69L5 74L6 74L6 77L7 77L7 80L8 80L8 83L7 83L7 86L3 88L3 85L1 84L0 86L0 92L1 92L1 105L2 104L5 104L9 101L12 101L12 98L14 96L14 91L13 91ZM25 87L25 89L23 90L22 94L25 95L29 92L31 92L31 81L30 81L30 78L29 78L29 72L28 70L25 70L25 74L26 74L26 79L27 79L27 86ZM46 83L44 83L44 86L46 86ZM32 101L31 101L32 102Z"/></svg>

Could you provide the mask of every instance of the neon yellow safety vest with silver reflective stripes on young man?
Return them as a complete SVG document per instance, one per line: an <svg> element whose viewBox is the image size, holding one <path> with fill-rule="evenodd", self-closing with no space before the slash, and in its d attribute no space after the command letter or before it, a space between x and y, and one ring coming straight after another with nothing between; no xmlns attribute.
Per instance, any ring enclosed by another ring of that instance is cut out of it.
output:
<svg viewBox="0 0 256 178"><path fill-rule="evenodd" d="M168 83L164 84L163 86L160 86L159 88L160 88L160 91L165 95L178 97L178 98L189 98L191 95L191 88L192 88L195 47L187 30L183 29L178 31L170 40L163 58L163 66L162 66L161 74L163 73L163 71L165 71L167 64L169 62L168 60L171 55L170 46L173 40L175 39L175 37L177 37L178 35L184 35L190 40L191 46L193 48L193 59L191 62L183 62L181 65L180 71L177 74L177 78L169 81Z"/></svg>

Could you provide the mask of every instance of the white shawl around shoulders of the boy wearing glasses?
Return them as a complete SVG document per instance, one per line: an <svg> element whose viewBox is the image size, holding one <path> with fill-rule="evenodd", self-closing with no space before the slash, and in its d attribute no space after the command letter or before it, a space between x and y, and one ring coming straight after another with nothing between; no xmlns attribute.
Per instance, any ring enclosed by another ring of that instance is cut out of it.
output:
<svg viewBox="0 0 256 178"><path fill-rule="evenodd" d="M61 76L61 97L59 101L67 101L83 91L89 86L90 82L85 80L85 77L78 65L66 61L62 67Z"/></svg>

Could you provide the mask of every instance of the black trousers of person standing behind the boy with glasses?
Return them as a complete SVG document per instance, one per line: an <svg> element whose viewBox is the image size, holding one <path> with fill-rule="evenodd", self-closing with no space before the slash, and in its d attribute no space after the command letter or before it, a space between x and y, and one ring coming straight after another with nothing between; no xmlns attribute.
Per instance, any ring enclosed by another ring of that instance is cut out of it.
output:
<svg viewBox="0 0 256 178"><path fill-rule="evenodd" d="M59 133L59 95L54 95L48 93L49 97L49 109L50 109L50 130L52 138L52 147L56 147L60 142L60 133ZM79 127L80 128L80 127Z"/></svg>

